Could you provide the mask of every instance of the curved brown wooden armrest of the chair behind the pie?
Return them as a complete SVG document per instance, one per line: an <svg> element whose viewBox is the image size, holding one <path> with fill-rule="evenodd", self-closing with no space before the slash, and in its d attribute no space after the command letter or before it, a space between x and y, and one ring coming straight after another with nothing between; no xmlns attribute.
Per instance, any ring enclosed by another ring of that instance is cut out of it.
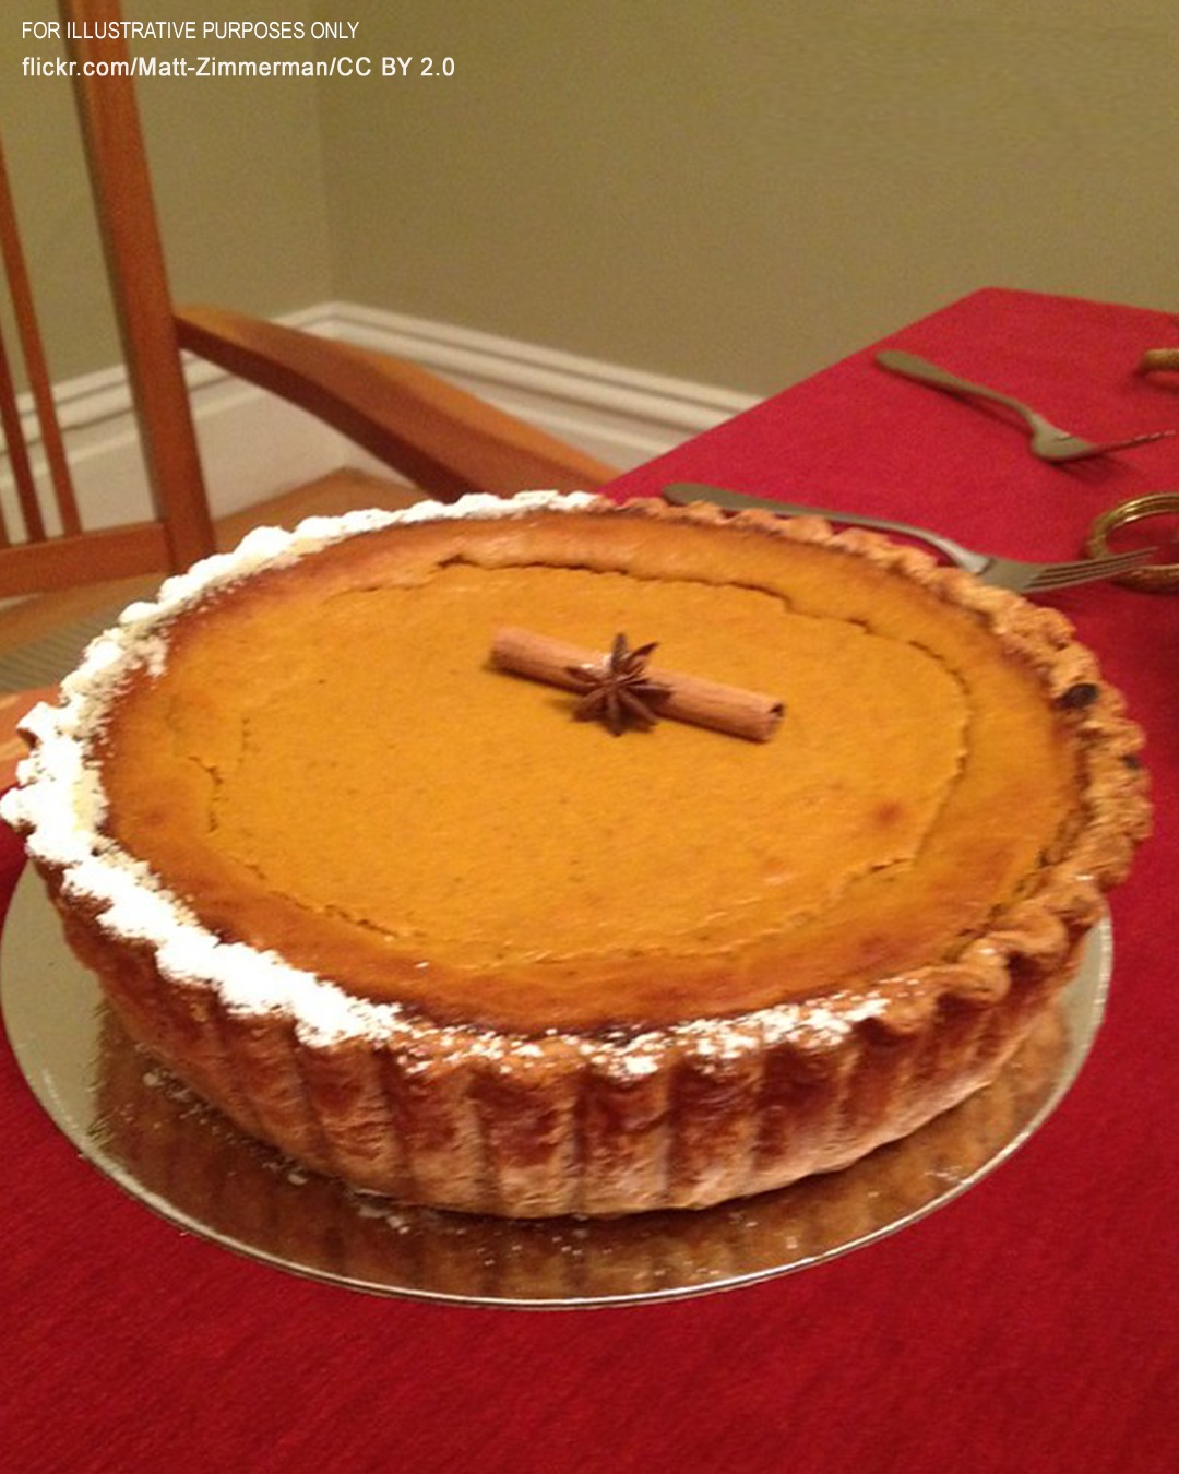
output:
<svg viewBox="0 0 1179 1474"><path fill-rule="evenodd" d="M416 364L212 307L175 312L181 348L289 399L423 491L594 491L618 472Z"/></svg>

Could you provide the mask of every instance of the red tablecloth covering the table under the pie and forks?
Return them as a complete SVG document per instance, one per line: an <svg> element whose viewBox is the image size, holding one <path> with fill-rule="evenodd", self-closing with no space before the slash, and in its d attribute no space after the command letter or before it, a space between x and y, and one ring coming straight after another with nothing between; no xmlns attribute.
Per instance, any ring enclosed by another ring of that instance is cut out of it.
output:
<svg viewBox="0 0 1179 1474"><path fill-rule="evenodd" d="M892 339L1091 433L1179 426L1144 380L1173 317L979 292ZM625 478L712 479L1067 554L1179 442L1042 466L999 419L856 355ZM1158 821L1117 895L1080 1080L982 1185L868 1248L738 1293L584 1313L307 1282L177 1232L99 1176L0 1055L0 1449L71 1470L1070 1471L1179 1468L1179 597L1057 600L1150 734ZM0 833L3 893L19 852Z"/></svg>

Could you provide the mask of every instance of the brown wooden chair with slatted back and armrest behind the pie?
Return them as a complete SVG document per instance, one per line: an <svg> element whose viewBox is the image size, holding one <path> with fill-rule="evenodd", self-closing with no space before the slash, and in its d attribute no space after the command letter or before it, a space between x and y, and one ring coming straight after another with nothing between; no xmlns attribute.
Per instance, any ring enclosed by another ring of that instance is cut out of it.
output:
<svg viewBox="0 0 1179 1474"><path fill-rule="evenodd" d="M78 115L155 516L121 528L83 526L0 152L4 274L47 464L47 478L37 478L22 433L15 373L0 342L0 422L24 522L24 537L0 526L0 598L181 569L211 551L214 535L181 349L311 411L432 495L510 494L528 486L591 489L612 478L609 466L413 364L223 308L177 308L134 83L119 65L127 60L125 46L119 38L96 38L109 29L102 22L121 19L119 6L116 0L60 0L59 9L63 21L74 22L69 44ZM49 488L40 485L44 479ZM41 491L52 491L52 516L41 506Z"/></svg>

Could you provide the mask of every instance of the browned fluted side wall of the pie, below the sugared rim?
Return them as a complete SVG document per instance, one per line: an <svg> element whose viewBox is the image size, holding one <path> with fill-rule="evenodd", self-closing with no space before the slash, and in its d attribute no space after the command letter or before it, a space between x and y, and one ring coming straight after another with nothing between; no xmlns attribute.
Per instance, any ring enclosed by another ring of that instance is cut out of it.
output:
<svg viewBox="0 0 1179 1474"><path fill-rule="evenodd" d="M734 1057L668 1036L657 1067L626 1075L564 1041L498 1058L301 1044L59 907L127 1032L243 1131L407 1204L519 1218L704 1207L846 1166L993 1080L1071 976L1071 960L1015 970L998 998L926 998L903 1024L898 1010Z"/></svg>

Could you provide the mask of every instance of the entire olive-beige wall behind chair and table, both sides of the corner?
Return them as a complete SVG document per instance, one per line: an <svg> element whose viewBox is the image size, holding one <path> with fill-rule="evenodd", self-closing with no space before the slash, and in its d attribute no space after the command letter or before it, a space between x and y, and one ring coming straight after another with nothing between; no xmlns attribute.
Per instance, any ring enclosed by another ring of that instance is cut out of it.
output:
<svg viewBox="0 0 1179 1474"><path fill-rule="evenodd" d="M246 12L454 75L144 84L184 296L335 295L752 392L982 284L1179 310L1172 0L127 4ZM16 31L3 122L60 192L35 249L68 289L63 87L24 112Z"/></svg>

